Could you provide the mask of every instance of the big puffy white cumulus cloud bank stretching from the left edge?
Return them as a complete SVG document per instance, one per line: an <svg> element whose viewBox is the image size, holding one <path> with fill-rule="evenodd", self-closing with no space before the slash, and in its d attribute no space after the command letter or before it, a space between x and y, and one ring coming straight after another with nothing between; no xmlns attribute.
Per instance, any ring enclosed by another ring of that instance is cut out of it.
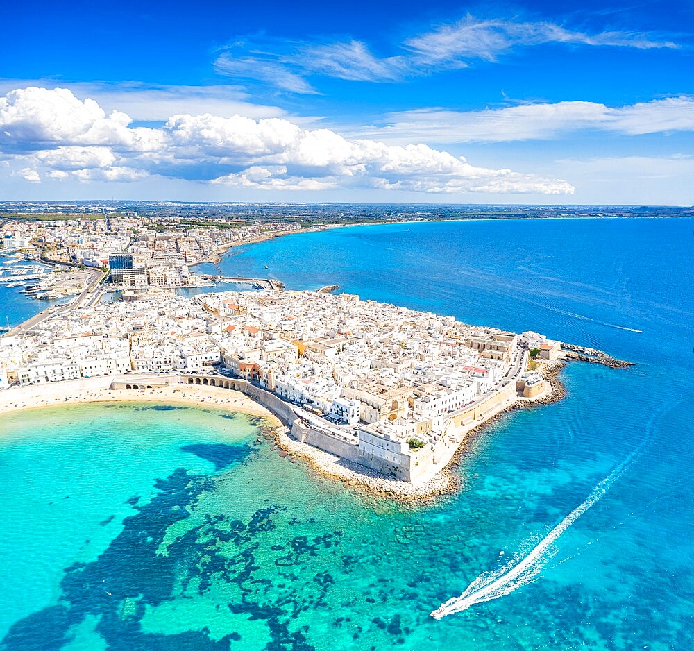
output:
<svg viewBox="0 0 694 651"><path fill-rule="evenodd" d="M564 180L475 167L425 144L349 139L287 119L180 114L161 128L133 128L125 113L106 115L65 89L26 88L0 98L0 153L26 180L40 180L43 170L83 183L162 176L264 189L573 192Z"/></svg>

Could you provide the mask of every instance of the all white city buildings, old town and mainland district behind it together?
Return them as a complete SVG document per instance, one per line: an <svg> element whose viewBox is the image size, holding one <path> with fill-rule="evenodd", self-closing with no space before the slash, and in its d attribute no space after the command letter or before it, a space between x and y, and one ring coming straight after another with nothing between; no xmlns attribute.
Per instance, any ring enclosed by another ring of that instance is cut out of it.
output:
<svg viewBox="0 0 694 651"><path fill-rule="evenodd" d="M282 291L273 280L266 291L182 295L214 282L192 264L299 228L105 210L0 220L0 282L72 297L6 328L0 389L105 376L131 389L239 389L299 441L408 481L450 457L475 423L550 390L528 369L528 351L554 360L560 344L534 332L466 326L332 287Z"/></svg>

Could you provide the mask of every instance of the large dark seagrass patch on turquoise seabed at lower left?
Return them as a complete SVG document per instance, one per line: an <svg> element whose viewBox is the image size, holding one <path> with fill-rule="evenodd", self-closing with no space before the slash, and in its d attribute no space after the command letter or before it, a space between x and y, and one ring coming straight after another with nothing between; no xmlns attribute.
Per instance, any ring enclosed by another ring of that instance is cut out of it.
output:
<svg viewBox="0 0 694 651"><path fill-rule="evenodd" d="M194 451L216 464L229 460L226 452L209 447ZM141 625L146 611L189 594L191 588L205 597L214 594L210 589L221 582L237 586L237 596L219 607L264 626L271 639L268 651L310 651L310 620L300 616L308 609L328 607L325 597L336 580L326 569L326 555L337 553L341 532L287 538L284 520L291 518L284 515L286 508L269 504L243 520L198 513L196 525L169 542L162 554L160 545L169 527L189 518L203 493L214 491L216 484L214 478L179 468L155 487L149 502L128 500L135 514L124 519L123 530L96 560L65 568L60 603L17 621L0 648L59 649L70 641L75 627L92 616L94 631L115 651L226 651L232 641L243 645L242 634L229 630L221 639L212 639L202 627L165 635L146 632ZM203 522L198 524L201 515ZM278 517L284 518L282 527L276 523ZM319 526L314 518L298 524L312 530ZM269 573L268 568L274 569Z"/></svg>

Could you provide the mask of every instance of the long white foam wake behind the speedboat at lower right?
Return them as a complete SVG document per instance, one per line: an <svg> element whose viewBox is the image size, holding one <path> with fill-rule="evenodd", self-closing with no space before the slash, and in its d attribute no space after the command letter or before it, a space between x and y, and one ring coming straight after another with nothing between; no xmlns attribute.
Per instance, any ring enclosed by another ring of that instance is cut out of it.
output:
<svg viewBox="0 0 694 651"><path fill-rule="evenodd" d="M510 594L514 590L525 586L535 580L546 561L551 557L551 547L568 527L573 525L588 509L600 501L609 487L631 466L638 456L643 453L645 447L650 444L652 437L648 437L632 452L619 466L617 466L604 480L598 482L590 495L573 511L564 518L552 531L550 531L537 545L525 556L505 567L492 572L480 574L460 595L453 597L439 608L432 611L434 619L441 619L446 615L467 610L475 604L484 601L498 599Z"/></svg>

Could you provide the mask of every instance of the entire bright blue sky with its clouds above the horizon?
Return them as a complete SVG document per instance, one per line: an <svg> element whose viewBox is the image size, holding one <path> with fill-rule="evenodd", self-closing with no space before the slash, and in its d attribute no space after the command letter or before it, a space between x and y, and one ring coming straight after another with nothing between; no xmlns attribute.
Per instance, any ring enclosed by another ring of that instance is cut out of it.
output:
<svg viewBox="0 0 694 651"><path fill-rule="evenodd" d="M0 199L694 203L691 2L0 12Z"/></svg>

